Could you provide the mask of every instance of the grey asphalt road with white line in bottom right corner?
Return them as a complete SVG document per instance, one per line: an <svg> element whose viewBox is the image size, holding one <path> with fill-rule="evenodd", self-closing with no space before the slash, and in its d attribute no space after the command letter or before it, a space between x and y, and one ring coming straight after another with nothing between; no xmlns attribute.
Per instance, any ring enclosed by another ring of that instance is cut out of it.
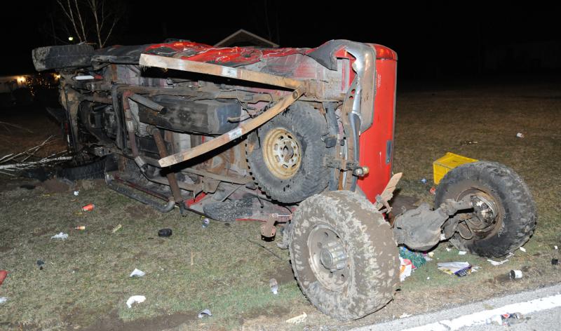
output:
<svg viewBox="0 0 561 331"><path fill-rule="evenodd" d="M496 324L501 313L517 312L522 318L510 326ZM561 285L353 329L367 330L561 330Z"/></svg>

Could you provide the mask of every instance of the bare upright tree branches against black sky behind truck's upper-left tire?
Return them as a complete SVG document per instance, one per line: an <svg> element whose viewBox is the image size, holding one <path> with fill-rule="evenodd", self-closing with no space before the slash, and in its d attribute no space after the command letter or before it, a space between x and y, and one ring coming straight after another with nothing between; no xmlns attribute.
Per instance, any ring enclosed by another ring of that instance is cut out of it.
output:
<svg viewBox="0 0 561 331"><path fill-rule="evenodd" d="M121 1L106 0L56 0L60 15L60 28L67 36L76 36L79 43L95 43L102 48L123 17ZM56 36L53 27L53 38Z"/></svg>

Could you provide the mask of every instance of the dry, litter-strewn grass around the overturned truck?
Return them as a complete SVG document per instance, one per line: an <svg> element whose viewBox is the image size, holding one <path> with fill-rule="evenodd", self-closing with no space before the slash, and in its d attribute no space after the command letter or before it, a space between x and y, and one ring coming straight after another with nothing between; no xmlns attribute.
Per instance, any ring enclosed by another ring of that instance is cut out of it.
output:
<svg viewBox="0 0 561 331"><path fill-rule="evenodd" d="M259 224L211 222L203 229L199 215L159 214L98 183L80 183L76 197L70 191L20 189L22 180L6 179L0 193L0 269L10 273L0 287L0 297L8 297L0 309L0 328L301 330L323 325L339 330L558 283L561 269L550 264L560 257L553 245L561 246L558 91L477 86L398 95L394 170L404 173L402 194L431 202L432 161L447 151L504 163L529 185L538 205L536 234L525 245L527 252L517 250L502 266L458 255L454 248L447 251L442 243L434 260L414 271L388 306L362 320L338 323L306 301L291 276L288 252L260 241ZM525 138L515 137L518 132ZM465 140L478 143L464 146ZM423 177L428 184L420 182ZM95 203L95 210L80 213L87 203ZM117 224L122 229L113 234ZM86 230L74 230L77 225ZM164 227L173 229L173 236L159 238L157 231ZM69 234L67 241L50 240L60 231ZM46 262L43 270L38 259ZM480 269L458 278L436 268L450 261ZM129 278L135 268L147 275ZM525 277L509 281L511 269L522 269ZM273 277L280 283L276 296L268 285ZM128 309L131 295L147 301ZM205 308L213 316L196 318ZM309 315L305 323L284 323L302 312Z"/></svg>

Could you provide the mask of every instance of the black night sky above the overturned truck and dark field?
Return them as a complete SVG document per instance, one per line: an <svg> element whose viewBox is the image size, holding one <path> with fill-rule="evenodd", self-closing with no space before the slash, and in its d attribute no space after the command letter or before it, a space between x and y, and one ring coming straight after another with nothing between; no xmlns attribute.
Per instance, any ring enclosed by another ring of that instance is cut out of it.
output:
<svg viewBox="0 0 561 331"><path fill-rule="evenodd" d="M561 6L545 1L123 2L126 15L111 43L177 38L212 44L243 28L286 47L316 47L330 39L381 43L396 50L400 76L407 78L561 69L560 60L551 60L561 58ZM32 73L32 48L53 44L46 30L55 1L6 3L0 74Z"/></svg>

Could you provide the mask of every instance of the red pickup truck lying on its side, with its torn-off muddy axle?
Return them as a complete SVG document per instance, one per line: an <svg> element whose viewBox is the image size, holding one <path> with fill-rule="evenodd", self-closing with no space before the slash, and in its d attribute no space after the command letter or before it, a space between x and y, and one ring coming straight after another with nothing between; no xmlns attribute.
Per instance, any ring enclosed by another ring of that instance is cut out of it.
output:
<svg viewBox="0 0 561 331"><path fill-rule="evenodd" d="M397 55L384 46L71 45L36 48L33 60L60 73L69 147L101 159L111 189L161 212L260 219L266 238L281 225L278 245L290 250L302 292L339 320L392 299L398 245L450 240L501 256L536 227L526 184L494 162L455 168L435 209L394 210L386 221L400 174Z"/></svg>

